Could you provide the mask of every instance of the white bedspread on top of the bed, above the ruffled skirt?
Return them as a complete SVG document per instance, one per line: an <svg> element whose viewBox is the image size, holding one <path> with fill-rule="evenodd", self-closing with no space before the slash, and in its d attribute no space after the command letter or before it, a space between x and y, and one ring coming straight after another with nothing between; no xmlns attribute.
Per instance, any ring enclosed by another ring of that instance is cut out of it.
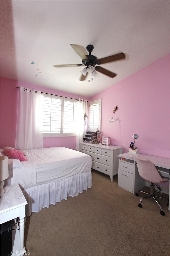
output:
<svg viewBox="0 0 170 256"><path fill-rule="evenodd" d="M7 185L19 183L27 189L91 170L91 157L76 150L51 147L26 151L28 161L22 162L25 167L10 169Z"/></svg>

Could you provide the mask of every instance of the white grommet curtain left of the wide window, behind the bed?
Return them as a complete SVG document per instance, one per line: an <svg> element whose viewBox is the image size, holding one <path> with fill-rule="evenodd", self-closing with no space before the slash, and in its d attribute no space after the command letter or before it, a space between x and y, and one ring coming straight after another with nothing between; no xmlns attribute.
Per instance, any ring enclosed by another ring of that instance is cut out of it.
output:
<svg viewBox="0 0 170 256"><path fill-rule="evenodd" d="M15 149L43 148L43 95L20 86Z"/></svg>

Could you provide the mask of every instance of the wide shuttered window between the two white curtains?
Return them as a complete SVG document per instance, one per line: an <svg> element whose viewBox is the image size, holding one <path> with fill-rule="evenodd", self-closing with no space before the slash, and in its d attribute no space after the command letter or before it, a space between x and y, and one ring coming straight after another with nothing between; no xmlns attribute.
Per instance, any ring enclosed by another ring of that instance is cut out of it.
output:
<svg viewBox="0 0 170 256"><path fill-rule="evenodd" d="M76 136L77 100L43 95L44 137Z"/></svg>

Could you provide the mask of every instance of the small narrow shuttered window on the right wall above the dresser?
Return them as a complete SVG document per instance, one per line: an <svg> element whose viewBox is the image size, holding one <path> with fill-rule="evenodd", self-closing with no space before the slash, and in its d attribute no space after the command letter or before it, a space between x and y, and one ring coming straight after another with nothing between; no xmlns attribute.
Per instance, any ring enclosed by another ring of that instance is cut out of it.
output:
<svg viewBox="0 0 170 256"><path fill-rule="evenodd" d="M101 129L101 99L90 101L88 105L88 131Z"/></svg>

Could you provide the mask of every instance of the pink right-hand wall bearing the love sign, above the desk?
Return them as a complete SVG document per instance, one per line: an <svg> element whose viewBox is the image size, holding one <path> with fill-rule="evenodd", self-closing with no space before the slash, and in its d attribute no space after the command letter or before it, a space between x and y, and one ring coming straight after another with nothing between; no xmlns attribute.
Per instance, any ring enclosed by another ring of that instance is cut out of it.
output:
<svg viewBox="0 0 170 256"><path fill-rule="evenodd" d="M140 153L170 157L169 60L167 55L90 98L102 99L102 136L123 146L124 153L137 133ZM115 105L118 110L113 114ZM108 123L110 117L121 121Z"/></svg>

